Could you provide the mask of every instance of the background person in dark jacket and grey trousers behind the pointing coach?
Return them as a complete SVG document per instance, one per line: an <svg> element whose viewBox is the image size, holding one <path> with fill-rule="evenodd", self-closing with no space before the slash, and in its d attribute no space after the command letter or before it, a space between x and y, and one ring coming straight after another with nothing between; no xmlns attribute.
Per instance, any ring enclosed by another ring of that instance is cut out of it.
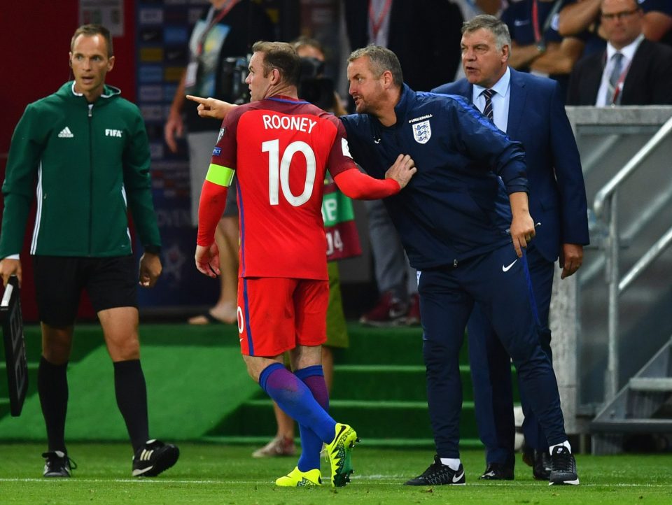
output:
<svg viewBox="0 0 672 505"><path fill-rule="evenodd" d="M345 0L350 49L369 44L398 56L406 83L430 90L455 78L460 66L460 8L448 0ZM441 62L437 65L436 62ZM381 200L365 202L377 303L360 318L364 325L418 325L420 305L415 269Z"/></svg>

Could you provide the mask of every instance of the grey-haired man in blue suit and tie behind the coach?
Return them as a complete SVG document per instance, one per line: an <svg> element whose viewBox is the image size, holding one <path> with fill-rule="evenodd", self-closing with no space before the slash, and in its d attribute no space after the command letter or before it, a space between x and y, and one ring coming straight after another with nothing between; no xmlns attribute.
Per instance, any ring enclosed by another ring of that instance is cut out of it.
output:
<svg viewBox="0 0 672 505"><path fill-rule="evenodd" d="M505 23L479 15L462 27L466 78L433 92L461 95L514 141L523 143L530 184L530 214L540 223L528 246L528 264L538 308L542 349L551 357L548 313L554 264L561 278L581 266L588 243L586 190L576 141L556 81L510 69L511 38ZM481 478L510 480L514 469L511 362L478 304L468 323L469 354L479 435L486 446ZM524 460L535 478L549 478L545 436L528 402L521 398L526 443Z"/></svg>

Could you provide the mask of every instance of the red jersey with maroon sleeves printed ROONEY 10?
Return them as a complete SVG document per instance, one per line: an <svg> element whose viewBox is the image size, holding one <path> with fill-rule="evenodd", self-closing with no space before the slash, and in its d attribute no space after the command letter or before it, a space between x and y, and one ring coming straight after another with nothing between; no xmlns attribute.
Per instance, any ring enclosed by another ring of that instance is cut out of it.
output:
<svg viewBox="0 0 672 505"><path fill-rule="evenodd" d="M241 277L328 278L325 171L356 168L338 118L280 96L239 106L223 122L213 165L237 176Z"/></svg>

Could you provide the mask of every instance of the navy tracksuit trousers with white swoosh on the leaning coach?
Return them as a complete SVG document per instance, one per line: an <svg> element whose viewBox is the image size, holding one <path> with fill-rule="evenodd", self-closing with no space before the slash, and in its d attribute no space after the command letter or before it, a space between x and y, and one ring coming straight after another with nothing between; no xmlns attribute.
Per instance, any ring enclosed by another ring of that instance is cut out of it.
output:
<svg viewBox="0 0 672 505"><path fill-rule="evenodd" d="M540 346L527 259L512 244L457 266L423 270L418 292L427 399L437 455L459 457L459 351L474 303L482 308L518 371L521 394L549 444L567 439L551 363Z"/></svg>

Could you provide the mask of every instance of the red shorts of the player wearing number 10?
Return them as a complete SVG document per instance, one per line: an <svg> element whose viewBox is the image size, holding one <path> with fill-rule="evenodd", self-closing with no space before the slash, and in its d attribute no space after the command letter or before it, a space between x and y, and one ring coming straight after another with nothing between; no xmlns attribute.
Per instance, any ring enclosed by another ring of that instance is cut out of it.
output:
<svg viewBox="0 0 672 505"><path fill-rule="evenodd" d="M238 280L241 353L274 357L327 339L329 281L293 278Z"/></svg>

